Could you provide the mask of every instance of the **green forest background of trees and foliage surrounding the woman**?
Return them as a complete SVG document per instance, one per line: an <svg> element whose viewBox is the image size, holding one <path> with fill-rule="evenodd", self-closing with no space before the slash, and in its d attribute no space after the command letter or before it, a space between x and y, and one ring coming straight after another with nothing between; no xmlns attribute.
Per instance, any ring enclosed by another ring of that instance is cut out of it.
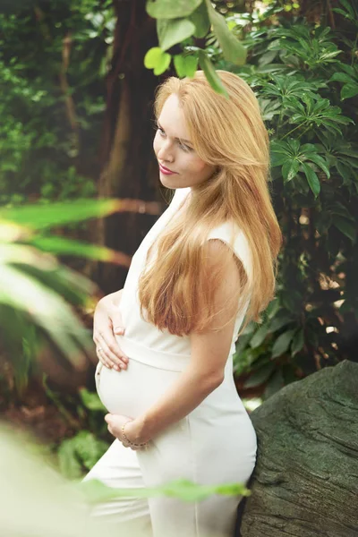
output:
<svg viewBox="0 0 358 537"><path fill-rule="evenodd" d="M166 209L152 104L170 74L204 69L220 91L215 69L238 73L270 135L285 243L277 296L237 342L239 394L249 405L357 360L354 3L149 4L16 0L0 14L0 410L70 478L110 441L92 313Z"/></svg>

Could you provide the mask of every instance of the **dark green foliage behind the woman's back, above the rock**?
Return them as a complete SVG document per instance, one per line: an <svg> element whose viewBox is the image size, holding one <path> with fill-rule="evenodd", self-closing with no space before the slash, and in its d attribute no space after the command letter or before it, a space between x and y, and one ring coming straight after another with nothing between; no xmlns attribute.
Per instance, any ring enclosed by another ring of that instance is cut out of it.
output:
<svg viewBox="0 0 358 537"><path fill-rule="evenodd" d="M354 8L339 13L353 21ZM336 10L337 11L337 10ZM248 64L234 68L260 101L271 138L270 189L285 237L277 297L239 338L237 374L264 398L316 368L356 360L357 33L279 8L231 15ZM231 67L220 59L216 67Z"/></svg>

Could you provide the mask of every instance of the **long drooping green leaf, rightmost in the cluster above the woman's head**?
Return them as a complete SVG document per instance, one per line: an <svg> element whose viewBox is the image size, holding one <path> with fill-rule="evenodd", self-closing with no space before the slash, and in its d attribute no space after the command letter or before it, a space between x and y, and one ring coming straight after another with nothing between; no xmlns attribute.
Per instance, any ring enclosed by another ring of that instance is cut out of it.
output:
<svg viewBox="0 0 358 537"><path fill-rule="evenodd" d="M210 0L205 0L205 2L208 8L209 20L225 59L235 65L243 65L247 55L246 48L243 47L243 44L227 28L225 18L220 13L217 13L211 5Z"/></svg>

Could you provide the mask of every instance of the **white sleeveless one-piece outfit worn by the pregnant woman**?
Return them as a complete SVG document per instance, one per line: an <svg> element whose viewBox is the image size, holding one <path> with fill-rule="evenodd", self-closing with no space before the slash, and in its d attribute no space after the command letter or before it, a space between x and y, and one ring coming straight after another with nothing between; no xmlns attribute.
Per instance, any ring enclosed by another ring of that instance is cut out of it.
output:
<svg viewBox="0 0 358 537"><path fill-rule="evenodd" d="M128 367L118 372L99 362L96 370L98 396L110 413L132 418L141 415L170 390L190 362L190 337L174 336L142 320L137 296L138 277L150 244L183 207L182 201L190 193L190 187L175 191L169 207L132 258L120 303L125 334L117 337L130 359ZM229 243L232 229L226 222L214 229L209 238ZM234 252L250 277L248 243L237 227L234 231ZM133 489L176 479L203 485L248 482L256 461L256 434L237 395L233 377L234 342L242 322L243 315L235 322L222 384L183 420L152 439L147 450L133 451L115 439L85 480L96 478L108 486ZM240 499L221 495L196 502L164 497L116 499L96 506L93 515L107 516L118 524L136 521L147 530L145 535L153 537L232 537Z"/></svg>

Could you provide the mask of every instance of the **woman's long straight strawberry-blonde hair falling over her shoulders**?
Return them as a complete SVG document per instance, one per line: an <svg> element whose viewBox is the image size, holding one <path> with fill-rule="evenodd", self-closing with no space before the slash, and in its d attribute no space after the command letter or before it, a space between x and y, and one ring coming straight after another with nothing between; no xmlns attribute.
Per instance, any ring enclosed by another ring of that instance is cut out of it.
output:
<svg viewBox="0 0 358 537"><path fill-rule="evenodd" d="M195 185L185 210L177 211L158 234L139 280L142 319L145 308L146 320L177 336L209 327L215 292L229 258L234 257L240 272L240 286L233 296L234 316L244 316L240 334L251 320L260 321L260 312L275 295L282 234L268 189L268 132L250 86L232 72L217 74L228 99L212 90L198 71L192 79L166 79L158 87L154 105L158 118L166 98L175 93L193 149L206 163L217 166L214 175ZM227 247L216 270L208 265L209 232L228 220L246 237L250 274ZM153 251L157 257L149 262Z"/></svg>

